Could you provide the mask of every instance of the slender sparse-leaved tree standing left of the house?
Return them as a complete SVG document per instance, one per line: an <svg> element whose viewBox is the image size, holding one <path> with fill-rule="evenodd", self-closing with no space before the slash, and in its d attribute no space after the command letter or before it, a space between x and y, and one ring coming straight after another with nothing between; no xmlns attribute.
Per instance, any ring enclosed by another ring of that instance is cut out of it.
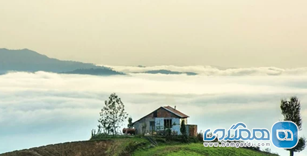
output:
<svg viewBox="0 0 307 156"><path fill-rule="evenodd" d="M122 126L128 114L125 112L125 106L116 93L112 93L109 96L109 100L104 102L104 105L105 106L101 109L98 122L107 130L108 134L111 132L115 135L116 129Z"/></svg>

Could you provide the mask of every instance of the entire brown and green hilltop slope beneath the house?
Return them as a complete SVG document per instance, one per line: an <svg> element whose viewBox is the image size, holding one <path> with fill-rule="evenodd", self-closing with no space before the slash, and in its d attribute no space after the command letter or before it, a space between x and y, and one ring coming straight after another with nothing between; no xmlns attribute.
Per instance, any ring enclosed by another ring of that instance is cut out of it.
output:
<svg viewBox="0 0 307 156"><path fill-rule="evenodd" d="M235 147L204 147L202 143L182 144L159 141L158 146L139 137L91 140L36 147L0 154L1 156L277 156Z"/></svg>

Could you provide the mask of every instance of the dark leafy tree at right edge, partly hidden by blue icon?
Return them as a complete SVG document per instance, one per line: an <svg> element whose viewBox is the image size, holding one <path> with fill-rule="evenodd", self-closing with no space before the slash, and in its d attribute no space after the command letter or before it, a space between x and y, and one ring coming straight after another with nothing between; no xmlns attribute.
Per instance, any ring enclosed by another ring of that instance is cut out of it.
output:
<svg viewBox="0 0 307 156"><path fill-rule="evenodd" d="M281 100L280 103L281 114L284 117L284 121L292 121L298 126L298 130L302 129L302 118L300 115L300 101L296 96L291 96L290 100ZM290 151L290 156L294 155L294 152L300 152L306 147L306 139L304 137L299 138L298 144L292 149L286 149Z"/></svg>

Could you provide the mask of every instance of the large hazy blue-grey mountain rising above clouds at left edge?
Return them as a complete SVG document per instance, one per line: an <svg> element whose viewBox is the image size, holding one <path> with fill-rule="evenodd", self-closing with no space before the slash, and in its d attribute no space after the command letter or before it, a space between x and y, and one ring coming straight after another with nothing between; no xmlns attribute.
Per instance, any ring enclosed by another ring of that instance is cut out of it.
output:
<svg viewBox="0 0 307 156"><path fill-rule="evenodd" d="M6 71L68 72L76 69L90 68L107 69L89 63L52 59L29 49L0 49L0 73Z"/></svg>

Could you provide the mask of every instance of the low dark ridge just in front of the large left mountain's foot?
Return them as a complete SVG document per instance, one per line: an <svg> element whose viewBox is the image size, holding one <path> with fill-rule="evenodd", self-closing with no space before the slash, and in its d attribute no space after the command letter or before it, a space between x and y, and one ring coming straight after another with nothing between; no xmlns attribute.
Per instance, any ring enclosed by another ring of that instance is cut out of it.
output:
<svg viewBox="0 0 307 156"><path fill-rule="evenodd" d="M61 72L64 74L86 74L86 75L125 75L125 73L114 71L106 68L91 68L91 69L76 69L68 72Z"/></svg>

